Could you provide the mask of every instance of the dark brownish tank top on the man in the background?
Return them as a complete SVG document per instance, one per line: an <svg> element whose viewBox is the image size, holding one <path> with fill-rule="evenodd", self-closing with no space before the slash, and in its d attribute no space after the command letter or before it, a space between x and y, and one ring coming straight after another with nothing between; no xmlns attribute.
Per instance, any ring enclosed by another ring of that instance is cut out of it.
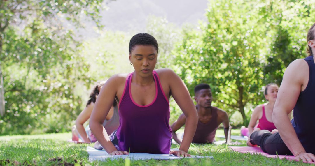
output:
<svg viewBox="0 0 315 166"><path fill-rule="evenodd" d="M193 143L212 143L215 132L218 129L218 108L211 106L211 120L204 124L198 120L196 133L192 139Z"/></svg>

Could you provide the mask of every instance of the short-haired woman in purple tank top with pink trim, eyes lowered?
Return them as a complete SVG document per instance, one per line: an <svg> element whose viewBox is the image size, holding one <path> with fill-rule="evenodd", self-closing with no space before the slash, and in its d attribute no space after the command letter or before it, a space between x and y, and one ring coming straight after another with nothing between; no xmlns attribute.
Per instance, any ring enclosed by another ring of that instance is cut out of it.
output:
<svg viewBox="0 0 315 166"><path fill-rule="evenodd" d="M178 75L170 69L154 70L158 45L149 34L137 34L129 42L129 60L135 71L113 75L103 86L90 118L90 129L110 155L133 153L190 156L198 114L190 94ZM183 141L178 151L170 151L169 97L175 99L186 116ZM119 99L120 125L109 137L102 123L113 100Z"/></svg>

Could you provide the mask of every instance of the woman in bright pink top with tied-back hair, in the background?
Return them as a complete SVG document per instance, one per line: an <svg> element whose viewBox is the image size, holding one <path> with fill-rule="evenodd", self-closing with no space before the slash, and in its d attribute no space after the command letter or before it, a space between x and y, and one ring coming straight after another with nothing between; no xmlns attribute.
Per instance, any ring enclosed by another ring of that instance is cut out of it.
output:
<svg viewBox="0 0 315 166"><path fill-rule="evenodd" d="M272 116L273 106L276 102L278 89L279 87L277 84L270 83L266 85L264 95L265 95L266 100L268 100L268 102L258 105L254 109L252 113L252 117L250 118L250 121L248 124L248 128L245 128L245 126L241 127L241 134L243 136L249 136L254 131L255 128L259 128L261 130L269 130L271 132L272 130L276 129L276 126L272 122L271 116ZM258 124L256 124L257 120L258 120Z"/></svg>

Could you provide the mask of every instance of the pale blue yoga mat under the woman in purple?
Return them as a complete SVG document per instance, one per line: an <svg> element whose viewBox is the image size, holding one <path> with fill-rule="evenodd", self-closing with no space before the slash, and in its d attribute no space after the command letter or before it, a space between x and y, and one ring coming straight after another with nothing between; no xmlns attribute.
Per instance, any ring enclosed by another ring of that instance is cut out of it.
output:
<svg viewBox="0 0 315 166"><path fill-rule="evenodd" d="M120 158L129 158L130 160L147 160L147 159L157 159L157 160L170 160L170 159L182 159L184 157L176 157L172 154L149 154L149 153L130 153L125 155L108 155L104 150L97 150L93 147L87 147L86 151L89 153L89 161L100 160L104 161L107 158L114 160ZM213 158L212 156L194 156L186 158Z"/></svg>

